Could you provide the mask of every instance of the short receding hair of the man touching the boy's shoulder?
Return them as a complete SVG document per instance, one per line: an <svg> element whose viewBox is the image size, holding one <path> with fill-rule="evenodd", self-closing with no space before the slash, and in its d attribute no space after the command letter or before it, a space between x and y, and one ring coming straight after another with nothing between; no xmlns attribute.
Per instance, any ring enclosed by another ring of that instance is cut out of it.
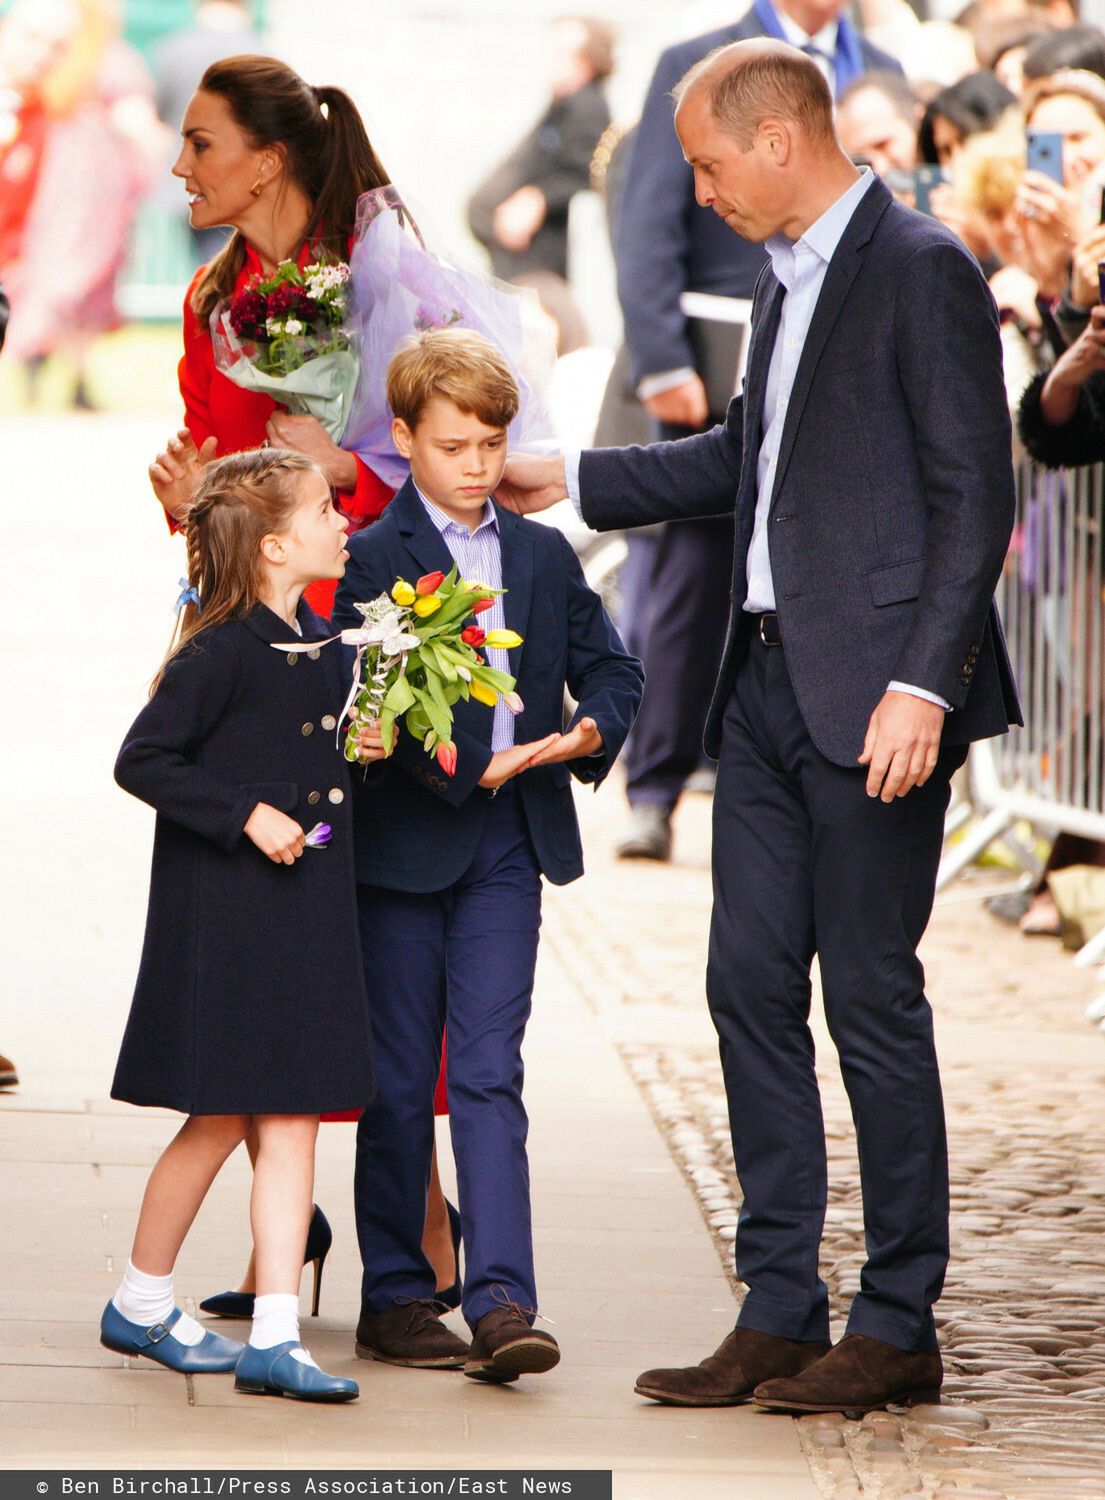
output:
<svg viewBox="0 0 1105 1500"><path fill-rule="evenodd" d="M718 58L730 50L729 68L717 68ZM675 86L676 106L699 82L708 90L709 112L742 152L751 147L756 132L769 118L790 120L820 144L837 138L829 86L817 63L789 42L757 42L756 51L745 50L741 42L715 48Z"/></svg>

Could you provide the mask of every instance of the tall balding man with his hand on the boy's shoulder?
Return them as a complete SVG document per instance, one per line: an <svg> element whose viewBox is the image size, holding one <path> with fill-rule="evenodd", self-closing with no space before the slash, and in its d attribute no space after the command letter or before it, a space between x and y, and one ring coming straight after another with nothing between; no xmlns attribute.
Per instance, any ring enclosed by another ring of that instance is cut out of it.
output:
<svg viewBox="0 0 1105 1500"><path fill-rule="evenodd" d="M502 498L577 488L598 530L736 512L706 993L744 1191L736 1329L637 1390L865 1412L933 1400L948 1148L916 948L949 782L1020 722L994 612L1014 519L994 303L964 246L843 152L808 57L745 40L691 69L676 130L699 202L769 264L741 396L700 436L574 462L513 459ZM808 1028L852 1102L867 1264L831 1347L828 1197Z"/></svg>

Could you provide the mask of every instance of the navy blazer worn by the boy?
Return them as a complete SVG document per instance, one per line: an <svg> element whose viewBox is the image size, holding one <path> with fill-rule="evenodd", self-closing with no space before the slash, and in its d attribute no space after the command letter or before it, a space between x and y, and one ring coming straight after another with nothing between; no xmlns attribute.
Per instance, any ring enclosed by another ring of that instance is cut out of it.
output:
<svg viewBox="0 0 1105 1500"><path fill-rule="evenodd" d="M495 510L507 627L522 636L522 645L508 652L525 704L514 720L514 740L522 744L564 729L565 684L579 704L571 723L594 718L603 735L597 754L537 766L514 782L543 873L553 885L567 885L583 873L571 776L594 786L606 778L637 714L645 674L618 638L601 598L588 588L567 538L553 526L498 506ZM453 567L411 480L348 548L334 628L360 624L354 604L388 592L397 578L414 582L423 573ZM354 798L358 880L396 891L441 891L460 879L487 816L489 794L480 777L492 758L493 712L475 699L456 704L453 777L397 724L391 760L364 777Z"/></svg>

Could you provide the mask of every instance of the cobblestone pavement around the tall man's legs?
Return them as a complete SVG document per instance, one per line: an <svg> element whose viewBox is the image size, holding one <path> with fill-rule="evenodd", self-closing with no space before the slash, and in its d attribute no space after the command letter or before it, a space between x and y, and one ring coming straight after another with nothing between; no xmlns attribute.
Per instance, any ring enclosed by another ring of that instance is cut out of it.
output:
<svg viewBox="0 0 1105 1500"><path fill-rule="evenodd" d="M603 832L609 842L612 830ZM562 892L549 940L618 1029L732 1272L741 1194L717 1052L700 1024L703 802L685 804L678 834L675 866L637 866L622 880L606 872L589 890ZM985 914L978 896L1000 880L973 872L945 896L922 950L952 1160L954 1258L937 1308L945 1400L862 1422L801 1419L811 1473L831 1500L1105 1497L1105 1038L1083 1014L1093 976L1057 944ZM859 1174L823 1034L819 1053L831 1179L822 1272L840 1312L864 1260Z"/></svg>

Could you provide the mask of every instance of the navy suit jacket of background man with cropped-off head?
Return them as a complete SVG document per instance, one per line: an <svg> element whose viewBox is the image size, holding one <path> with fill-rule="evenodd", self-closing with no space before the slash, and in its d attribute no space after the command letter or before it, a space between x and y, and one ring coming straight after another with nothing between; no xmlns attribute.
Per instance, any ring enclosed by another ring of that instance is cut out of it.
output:
<svg viewBox="0 0 1105 1500"><path fill-rule="evenodd" d="M733 26L679 42L661 52L625 171L615 260L618 298L634 387L645 375L694 366L687 318L679 310L685 291L721 297L751 297L763 270L763 246L739 238L712 208L694 201L694 174L675 134L672 88L717 46L763 36L756 10ZM901 72L901 64L858 38L865 69Z"/></svg>

